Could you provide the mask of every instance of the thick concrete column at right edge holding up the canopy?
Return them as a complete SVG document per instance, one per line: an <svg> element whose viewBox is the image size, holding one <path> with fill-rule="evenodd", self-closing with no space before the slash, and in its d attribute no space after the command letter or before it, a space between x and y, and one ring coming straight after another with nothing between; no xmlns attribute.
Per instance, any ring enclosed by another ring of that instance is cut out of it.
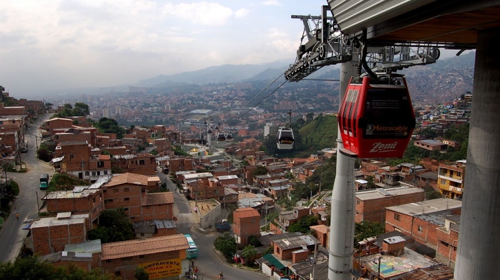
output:
<svg viewBox="0 0 500 280"><path fill-rule="evenodd" d="M497 279L500 259L500 29L479 31L455 280Z"/></svg>

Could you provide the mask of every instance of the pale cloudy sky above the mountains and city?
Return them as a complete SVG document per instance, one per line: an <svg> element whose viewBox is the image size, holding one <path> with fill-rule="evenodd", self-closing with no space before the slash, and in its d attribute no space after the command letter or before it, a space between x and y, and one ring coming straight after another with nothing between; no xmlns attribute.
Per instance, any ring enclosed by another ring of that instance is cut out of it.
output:
<svg viewBox="0 0 500 280"><path fill-rule="evenodd" d="M3 0L0 85L11 96L290 60L326 0Z"/></svg>

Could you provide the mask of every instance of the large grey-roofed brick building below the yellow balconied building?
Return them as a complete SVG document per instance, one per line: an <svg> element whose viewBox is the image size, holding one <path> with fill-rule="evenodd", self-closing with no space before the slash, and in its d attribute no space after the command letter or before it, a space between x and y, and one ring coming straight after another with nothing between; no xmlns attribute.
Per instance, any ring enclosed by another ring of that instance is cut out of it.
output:
<svg viewBox="0 0 500 280"><path fill-rule="evenodd" d="M462 202L438 198L386 208L385 232L398 231L415 242L437 248L436 228L460 214Z"/></svg>

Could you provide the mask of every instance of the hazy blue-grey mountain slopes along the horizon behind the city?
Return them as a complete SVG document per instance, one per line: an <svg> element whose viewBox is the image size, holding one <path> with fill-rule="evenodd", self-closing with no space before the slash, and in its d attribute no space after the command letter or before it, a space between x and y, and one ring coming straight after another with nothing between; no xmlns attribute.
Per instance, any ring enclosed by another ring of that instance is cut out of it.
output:
<svg viewBox="0 0 500 280"><path fill-rule="evenodd" d="M460 56L438 59L433 64L409 67L403 69L401 73L406 75L408 84L410 81L413 84L410 89L412 98L415 96L419 100L432 100L433 102L449 101L447 98L459 96L464 90L471 90L474 58L475 52L472 51ZM148 87L151 88L148 92L157 93L164 92L164 89L171 89L177 92L184 90L192 91L201 85L210 83L268 83L280 77L292 63L293 61L290 60L262 64L225 64L191 72L158 75L129 85ZM306 79L337 80L340 76L339 67L340 65L323 67L307 76ZM446 80L447 83L445 88L440 85L443 80ZM283 81L284 77L281 76L278 82L281 83ZM68 94L106 93L109 91L127 92L129 85L53 90L50 91L50 94L53 96L66 96ZM40 92L39 94L46 96L46 92ZM428 98L427 95L431 95L431 98Z"/></svg>

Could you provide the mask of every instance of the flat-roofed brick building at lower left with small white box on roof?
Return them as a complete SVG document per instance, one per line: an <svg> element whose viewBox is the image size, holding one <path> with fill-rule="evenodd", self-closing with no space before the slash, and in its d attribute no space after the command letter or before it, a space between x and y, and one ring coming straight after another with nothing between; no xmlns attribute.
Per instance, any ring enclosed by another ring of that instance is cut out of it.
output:
<svg viewBox="0 0 500 280"><path fill-rule="evenodd" d="M33 221L29 227L33 253L47 255L63 251L67 244L86 241L87 225L88 214L71 215L69 212Z"/></svg>

